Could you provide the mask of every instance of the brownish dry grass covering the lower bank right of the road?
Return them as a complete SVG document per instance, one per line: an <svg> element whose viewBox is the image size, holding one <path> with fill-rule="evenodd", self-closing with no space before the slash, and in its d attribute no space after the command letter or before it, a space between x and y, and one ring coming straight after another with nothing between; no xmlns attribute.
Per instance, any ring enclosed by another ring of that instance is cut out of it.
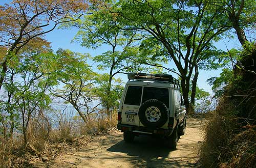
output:
<svg viewBox="0 0 256 168"><path fill-rule="evenodd" d="M236 117L236 108L222 99L215 111L207 114L200 160L203 167L255 167L256 127Z"/></svg>

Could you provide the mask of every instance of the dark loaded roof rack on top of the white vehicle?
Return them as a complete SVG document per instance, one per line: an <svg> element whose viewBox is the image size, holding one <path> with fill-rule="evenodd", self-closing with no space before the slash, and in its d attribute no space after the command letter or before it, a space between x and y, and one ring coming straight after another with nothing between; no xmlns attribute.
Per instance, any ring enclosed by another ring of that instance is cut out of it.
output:
<svg viewBox="0 0 256 168"><path fill-rule="evenodd" d="M180 81L174 78L172 75L168 74L148 74L148 73L127 73L127 77L129 80L131 79L153 79L159 81L167 81L173 83L174 85L180 85Z"/></svg>

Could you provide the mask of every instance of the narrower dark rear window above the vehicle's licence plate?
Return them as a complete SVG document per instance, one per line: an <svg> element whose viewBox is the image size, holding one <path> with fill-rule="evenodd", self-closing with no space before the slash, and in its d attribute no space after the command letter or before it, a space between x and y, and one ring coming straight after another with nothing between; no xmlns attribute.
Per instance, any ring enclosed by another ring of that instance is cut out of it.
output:
<svg viewBox="0 0 256 168"><path fill-rule="evenodd" d="M124 104L140 105L141 92L142 92L142 87L129 86L126 91Z"/></svg>

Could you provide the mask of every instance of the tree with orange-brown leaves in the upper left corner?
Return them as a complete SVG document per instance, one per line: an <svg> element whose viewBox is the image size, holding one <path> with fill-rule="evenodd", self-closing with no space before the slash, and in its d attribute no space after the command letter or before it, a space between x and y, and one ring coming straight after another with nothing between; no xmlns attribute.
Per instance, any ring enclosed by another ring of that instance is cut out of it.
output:
<svg viewBox="0 0 256 168"><path fill-rule="evenodd" d="M0 6L0 46L7 51L1 61L0 90L12 54L36 37L53 31L60 23L77 20L88 5L84 0L17 0Z"/></svg>

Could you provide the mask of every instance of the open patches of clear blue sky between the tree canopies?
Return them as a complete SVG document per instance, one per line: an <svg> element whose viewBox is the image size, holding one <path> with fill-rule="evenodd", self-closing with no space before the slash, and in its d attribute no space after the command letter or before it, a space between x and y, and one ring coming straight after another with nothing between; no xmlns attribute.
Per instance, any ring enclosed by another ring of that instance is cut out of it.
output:
<svg viewBox="0 0 256 168"><path fill-rule="evenodd" d="M0 0L0 5L4 5L5 3L9 3L10 0ZM72 42L72 39L76 35L77 30L75 29L67 29L67 30L61 30L61 29L55 29L54 31L48 33L45 35L45 39L47 39L49 42L51 42L52 49L56 51L58 48L62 49L70 49L74 52L81 52L81 53L90 53L92 56L96 56L101 54L102 52L105 52L108 50L108 46L103 46L98 49L88 49L85 47L80 46L79 43ZM238 40L235 39L225 39L221 40L217 43L215 43L215 46L218 49L222 49L226 51L231 48L239 48L241 47ZM91 63L92 64L92 63ZM170 64L172 65L172 64ZM97 69L95 69L96 72L99 72ZM198 86L199 88L204 89L205 91L212 93L211 86L208 85L206 80L210 77L216 77L219 76L221 72L221 69L214 70L214 71L199 71L199 78L198 78ZM172 74L174 75L174 74ZM174 75L176 77L176 75ZM127 81L127 78L125 75L119 75L118 77L121 77L124 82Z"/></svg>

